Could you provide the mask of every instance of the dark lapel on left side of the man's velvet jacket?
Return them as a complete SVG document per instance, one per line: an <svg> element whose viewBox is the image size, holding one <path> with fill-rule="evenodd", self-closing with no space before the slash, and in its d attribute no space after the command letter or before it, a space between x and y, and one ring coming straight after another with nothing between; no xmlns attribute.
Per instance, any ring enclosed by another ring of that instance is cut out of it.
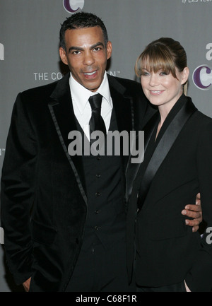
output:
<svg viewBox="0 0 212 306"><path fill-rule="evenodd" d="M68 152L68 146L71 142L68 139L69 132L77 130L69 88L69 73L64 76L61 81L59 81L57 87L51 95L51 98L52 102L49 102L49 111L52 115L54 126L57 130L64 153L66 154L66 157L68 158L72 167L76 181L78 182L78 187L81 191L83 199L87 203L86 192L84 191L85 182L82 158L79 155L70 156Z"/></svg>

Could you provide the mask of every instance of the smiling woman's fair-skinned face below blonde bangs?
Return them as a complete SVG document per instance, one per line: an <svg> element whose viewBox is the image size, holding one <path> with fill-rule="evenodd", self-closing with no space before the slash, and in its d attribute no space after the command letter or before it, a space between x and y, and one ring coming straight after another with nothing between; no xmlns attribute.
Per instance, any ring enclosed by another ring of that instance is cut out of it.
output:
<svg viewBox="0 0 212 306"><path fill-rule="evenodd" d="M160 107L165 107L170 111L175 105L179 97L182 95L182 84L187 81L189 69L186 67L184 71L179 72L175 69L176 76L172 73L165 73L163 70L151 72L148 69L143 69L141 74L141 86L146 98L153 104Z"/></svg>

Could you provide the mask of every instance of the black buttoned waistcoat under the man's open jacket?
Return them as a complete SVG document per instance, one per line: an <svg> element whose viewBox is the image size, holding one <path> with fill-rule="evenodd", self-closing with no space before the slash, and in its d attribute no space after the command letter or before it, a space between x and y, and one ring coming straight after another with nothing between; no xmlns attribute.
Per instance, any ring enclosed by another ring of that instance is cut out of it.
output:
<svg viewBox="0 0 212 306"><path fill-rule="evenodd" d="M78 122L77 127L82 131ZM115 130L117 130L117 120L113 110L110 131ZM90 154L83 155L82 160L88 198L82 249L100 243L104 247L112 247L117 241L125 239L122 157L114 154L110 156Z"/></svg>

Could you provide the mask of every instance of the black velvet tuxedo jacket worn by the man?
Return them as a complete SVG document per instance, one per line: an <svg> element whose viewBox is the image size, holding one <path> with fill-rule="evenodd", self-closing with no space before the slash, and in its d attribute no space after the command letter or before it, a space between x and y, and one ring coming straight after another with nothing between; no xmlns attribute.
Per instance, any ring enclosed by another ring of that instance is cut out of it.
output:
<svg viewBox="0 0 212 306"><path fill-rule="evenodd" d="M140 84L108 79L119 131L139 129L147 109ZM81 157L67 150L72 130L69 73L18 94L1 177L1 226L16 283L33 276L35 291L65 290L83 242L87 199Z"/></svg>

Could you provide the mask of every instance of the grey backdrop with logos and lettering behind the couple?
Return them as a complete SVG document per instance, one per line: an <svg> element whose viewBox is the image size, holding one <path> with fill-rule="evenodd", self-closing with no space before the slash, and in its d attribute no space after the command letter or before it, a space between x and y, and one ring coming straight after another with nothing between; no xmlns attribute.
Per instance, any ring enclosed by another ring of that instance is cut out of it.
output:
<svg viewBox="0 0 212 306"><path fill-rule="evenodd" d="M0 170L16 95L66 73L59 29L76 11L104 21L113 45L107 72L113 76L136 80L136 58L149 42L179 40L190 69L188 95L212 117L212 0L0 0ZM0 292L23 290L6 267L2 228L0 240Z"/></svg>

